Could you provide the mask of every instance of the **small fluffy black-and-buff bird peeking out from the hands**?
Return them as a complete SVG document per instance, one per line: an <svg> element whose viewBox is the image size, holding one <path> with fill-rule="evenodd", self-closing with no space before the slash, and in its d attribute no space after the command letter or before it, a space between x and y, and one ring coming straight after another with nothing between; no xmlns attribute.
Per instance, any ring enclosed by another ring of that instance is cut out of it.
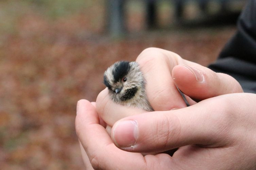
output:
<svg viewBox="0 0 256 170"><path fill-rule="evenodd" d="M137 62L114 63L104 72L103 83L115 103L154 111L145 91L146 80Z"/></svg>

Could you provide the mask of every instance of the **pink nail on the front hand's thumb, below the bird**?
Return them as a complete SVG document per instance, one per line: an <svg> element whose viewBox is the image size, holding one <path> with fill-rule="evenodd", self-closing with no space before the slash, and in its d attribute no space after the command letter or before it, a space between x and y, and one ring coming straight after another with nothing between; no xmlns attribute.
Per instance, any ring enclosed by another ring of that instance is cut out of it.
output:
<svg viewBox="0 0 256 170"><path fill-rule="evenodd" d="M138 139L138 123L134 120L120 121L113 127L113 140L118 147L131 147Z"/></svg>

